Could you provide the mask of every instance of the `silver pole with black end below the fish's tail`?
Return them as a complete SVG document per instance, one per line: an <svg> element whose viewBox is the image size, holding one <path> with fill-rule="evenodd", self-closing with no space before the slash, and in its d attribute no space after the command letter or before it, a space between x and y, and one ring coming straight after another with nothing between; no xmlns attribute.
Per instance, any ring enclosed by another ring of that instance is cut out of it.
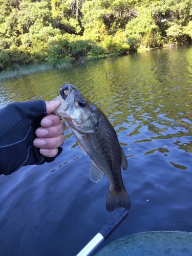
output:
<svg viewBox="0 0 192 256"><path fill-rule="evenodd" d="M103 226L94 238L76 256L89 256L97 247L113 233L113 231L128 216L128 210L121 208L117 214Z"/></svg>

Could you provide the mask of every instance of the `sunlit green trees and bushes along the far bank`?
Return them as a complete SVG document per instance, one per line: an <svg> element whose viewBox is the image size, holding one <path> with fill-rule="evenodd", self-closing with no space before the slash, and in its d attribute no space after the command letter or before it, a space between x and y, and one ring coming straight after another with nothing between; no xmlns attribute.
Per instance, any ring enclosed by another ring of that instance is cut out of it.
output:
<svg viewBox="0 0 192 256"><path fill-rule="evenodd" d="M191 0L0 0L0 71L192 38Z"/></svg>

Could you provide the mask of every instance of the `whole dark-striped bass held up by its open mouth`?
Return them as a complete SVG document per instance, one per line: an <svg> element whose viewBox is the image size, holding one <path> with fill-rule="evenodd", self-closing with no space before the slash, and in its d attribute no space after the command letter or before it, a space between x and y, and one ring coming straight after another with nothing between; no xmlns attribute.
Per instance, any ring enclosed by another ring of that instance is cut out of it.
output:
<svg viewBox="0 0 192 256"><path fill-rule="evenodd" d="M125 171L128 164L112 124L72 84L64 84L59 93L55 100L60 100L61 105L53 114L67 120L82 152L92 159L90 179L98 182L105 174L110 182L106 210L129 209L130 198L121 175L121 167Z"/></svg>

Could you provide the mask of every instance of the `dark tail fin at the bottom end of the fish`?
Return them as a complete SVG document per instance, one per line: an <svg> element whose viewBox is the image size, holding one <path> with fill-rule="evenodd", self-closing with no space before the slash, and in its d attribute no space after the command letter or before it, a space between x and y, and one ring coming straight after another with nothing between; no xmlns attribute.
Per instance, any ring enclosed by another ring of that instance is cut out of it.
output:
<svg viewBox="0 0 192 256"><path fill-rule="evenodd" d="M106 196L106 210L114 211L117 208L129 209L131 207L130 198L123 188L121 191L112 191L111 188Z"/></svg>

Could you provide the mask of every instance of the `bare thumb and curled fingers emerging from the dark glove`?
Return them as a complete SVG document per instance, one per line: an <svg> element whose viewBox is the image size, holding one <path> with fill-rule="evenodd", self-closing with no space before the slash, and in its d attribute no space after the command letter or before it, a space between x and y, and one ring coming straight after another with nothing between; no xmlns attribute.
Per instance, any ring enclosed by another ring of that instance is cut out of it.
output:
<svg viewBox="0 0 192 256"><path fill-rule="evenodd" d="M46 101L47 116L42 118L41 127L36 130L37 138L33 141L34 146L40 148L41 155L54 157L58 153L58 147L65 141L62 134L66 130L66 124L60 116L51 114L60 106L60 101Z"/></svg>

